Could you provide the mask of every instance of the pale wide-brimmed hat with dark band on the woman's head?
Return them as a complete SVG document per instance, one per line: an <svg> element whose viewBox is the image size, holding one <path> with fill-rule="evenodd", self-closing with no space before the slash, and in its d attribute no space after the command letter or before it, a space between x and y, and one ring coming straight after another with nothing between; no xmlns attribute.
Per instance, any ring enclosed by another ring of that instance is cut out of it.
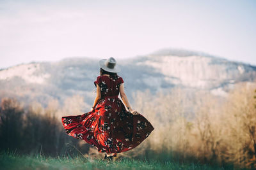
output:
<svg viewBox="0 0 256 170"><path fill-rule="evenodd" d="M113 57L110 57L109 59L102 59L99 61L99 64L102 69L111 73L121 71L120 67L116 66L116 60Z"/></svg>

